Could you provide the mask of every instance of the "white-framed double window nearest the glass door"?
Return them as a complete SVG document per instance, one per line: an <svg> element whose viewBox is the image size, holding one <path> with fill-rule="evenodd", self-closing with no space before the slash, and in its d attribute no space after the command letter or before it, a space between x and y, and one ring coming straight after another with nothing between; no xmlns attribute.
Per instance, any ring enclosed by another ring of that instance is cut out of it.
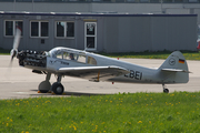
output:
<svg viewBox="0 0 200 133"><path fill-rule="evenodd" d="M56 22L56 37L57 38L73 38L74 37L74 22Z"/></svg>

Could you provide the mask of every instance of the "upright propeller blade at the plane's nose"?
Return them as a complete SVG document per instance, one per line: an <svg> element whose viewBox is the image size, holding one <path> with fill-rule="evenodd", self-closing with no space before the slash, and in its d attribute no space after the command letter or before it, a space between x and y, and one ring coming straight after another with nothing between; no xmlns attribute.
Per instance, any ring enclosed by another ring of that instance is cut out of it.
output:
<svg viewBox="0 0 200 133"><path fill-rule="evenodd" d="M18 47L19 47L20 38L21 38L21 29L19 27L17 27L16 34L14 34L14 40L13 40L13 48L10 51L11 63L13 61L13 58L17 57L17 54L18 54Z"/></svg>

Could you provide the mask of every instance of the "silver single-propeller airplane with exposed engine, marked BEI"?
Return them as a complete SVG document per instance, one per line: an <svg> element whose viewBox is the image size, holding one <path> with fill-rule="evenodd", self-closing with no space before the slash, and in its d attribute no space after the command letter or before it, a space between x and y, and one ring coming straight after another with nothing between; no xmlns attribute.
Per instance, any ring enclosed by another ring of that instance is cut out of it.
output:
<svg viewBox="0 0 200 133"><path fill-rule="evenodd" d="M17 28L11 50L11 62L14 57L19 65L31 69L33 73L46 74L38 90L62 94L64 88L61 80L64 75L87 79L93 82L149 83L162 84L163 92L169 93L166 84L187 83L189 81L188 64L180 51L172 52L158 69L103 57L86 50L58 47L49 52L22 50L18 52L21 30ZM50 83L51 74L57 75L57 82Z"/></svg>

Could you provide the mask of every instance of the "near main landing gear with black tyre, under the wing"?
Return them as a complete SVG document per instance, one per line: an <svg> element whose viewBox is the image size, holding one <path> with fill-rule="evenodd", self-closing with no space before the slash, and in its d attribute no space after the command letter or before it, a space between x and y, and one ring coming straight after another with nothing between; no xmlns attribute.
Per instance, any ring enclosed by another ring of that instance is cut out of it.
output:
<svg viewBox="0 0 200 133"><path fill-rule="evenodd" d="M64 91L63 85L60 83L61 82L62 76L58 75L57 78L57 82L54 82L51 86L51 90L56 93L56 94L62 94Z"/></svg>

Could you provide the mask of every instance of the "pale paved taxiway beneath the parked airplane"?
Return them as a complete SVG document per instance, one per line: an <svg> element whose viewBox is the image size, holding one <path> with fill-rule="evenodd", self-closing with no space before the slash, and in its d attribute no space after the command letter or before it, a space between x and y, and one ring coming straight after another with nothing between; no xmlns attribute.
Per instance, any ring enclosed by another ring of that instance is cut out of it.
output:
<svg viewBox="0 0 200 133"><path fill-rule="evenodd" d="M154 59L119 59L148 68L159 68L164 60ZM190 80L184 84L168 84L170 92L174 91L200 91L200 61L187 61L190 73ZM58 96L51 93L38 93L38 85L46 79L44 74L32 73L31 70L19 66L14 59L12 68L9 55L0 55L0 99L24 99L36 96ZM54 75L51 75L51 83L56 82ZM90 82L82 79L64 76L62 79L64 94L68 95L93 95L93 94L114 94L114 93L134 93L134 92L162 92L161 84L129 84L110 82Z"/></svg>

